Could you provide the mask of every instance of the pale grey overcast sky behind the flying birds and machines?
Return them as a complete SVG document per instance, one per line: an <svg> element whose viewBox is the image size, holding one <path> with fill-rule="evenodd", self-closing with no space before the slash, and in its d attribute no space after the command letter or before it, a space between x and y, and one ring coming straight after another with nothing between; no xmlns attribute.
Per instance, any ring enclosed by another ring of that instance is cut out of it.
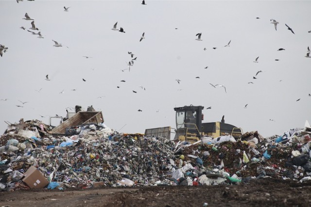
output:
<svg viewBox="0 0 311 207"><path fill-rule="evenodd" d="M4 121L48 124L49 116L66 116L65 108L75 105L93 105L107 126L126 125L120 132L127 133L175 127L173 108L190 104L212 107L203 110L204 122L225 115L226 123L264 137L311 121L311 58L304 57L311 1L145 2L1 0L0 44L9 49L0 57L0 99L8 99L0 101L0 133ZM43 39L27 32L25 13ZM270 19L279 22L277 31ZM111 30L116 22L125 33ZM132 59L128 51L137 60L122 72ZM209 83L225 84L227 93Z"/></svg>

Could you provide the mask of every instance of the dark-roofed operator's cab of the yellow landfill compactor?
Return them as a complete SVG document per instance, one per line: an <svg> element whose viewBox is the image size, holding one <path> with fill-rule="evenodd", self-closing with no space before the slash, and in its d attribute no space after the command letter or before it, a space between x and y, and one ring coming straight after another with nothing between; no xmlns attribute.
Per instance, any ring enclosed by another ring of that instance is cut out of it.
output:
<svg viewBox="0 0 311 207"><path fill-rule="evenodd" d="M190 143L200 140L203 109L203 106L192 105L174 108L174 111L176 111L175 139Z"/></svg>

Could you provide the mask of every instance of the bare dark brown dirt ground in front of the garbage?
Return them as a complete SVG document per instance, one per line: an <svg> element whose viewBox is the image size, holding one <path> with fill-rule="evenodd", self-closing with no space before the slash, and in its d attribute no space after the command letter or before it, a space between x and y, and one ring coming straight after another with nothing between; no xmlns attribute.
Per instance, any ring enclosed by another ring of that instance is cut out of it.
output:
<svg viewBox="0 0 311 207"><path fill-rule="evenodd" d="M239 185L0 192L1 207L309 207L311 182L264 178Z"/></svg>

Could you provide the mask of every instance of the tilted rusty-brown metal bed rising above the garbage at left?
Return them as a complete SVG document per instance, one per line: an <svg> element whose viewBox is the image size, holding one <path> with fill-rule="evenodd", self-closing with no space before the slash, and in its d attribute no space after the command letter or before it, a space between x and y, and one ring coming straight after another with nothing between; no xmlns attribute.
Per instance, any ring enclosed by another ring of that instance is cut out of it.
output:
<svg viewBox="0 0 311 207"><path fill-rule="evenodd" d="M84 124L100 124L104 122L102 111L79 111L62 124L54 127L51 134L65 134L66 128L75 127Z"/></svg>

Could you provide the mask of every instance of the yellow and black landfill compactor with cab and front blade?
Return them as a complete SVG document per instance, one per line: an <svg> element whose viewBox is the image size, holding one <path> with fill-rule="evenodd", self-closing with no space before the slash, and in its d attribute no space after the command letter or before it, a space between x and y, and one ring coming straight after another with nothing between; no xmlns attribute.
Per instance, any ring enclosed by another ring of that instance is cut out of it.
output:
<svg viewBox="0 0 311 207"><path fill-rule="evenodd" d="M225 116L220 122L202 123L204 106L183 106L176 107L176 128L174 129L174 141L187 141L194 143L204 136L212 138L231 135L240 138L243 134L242 128L225 123ZM151 128L145 130L145 136L170 137L171 127Z"/></svg>

